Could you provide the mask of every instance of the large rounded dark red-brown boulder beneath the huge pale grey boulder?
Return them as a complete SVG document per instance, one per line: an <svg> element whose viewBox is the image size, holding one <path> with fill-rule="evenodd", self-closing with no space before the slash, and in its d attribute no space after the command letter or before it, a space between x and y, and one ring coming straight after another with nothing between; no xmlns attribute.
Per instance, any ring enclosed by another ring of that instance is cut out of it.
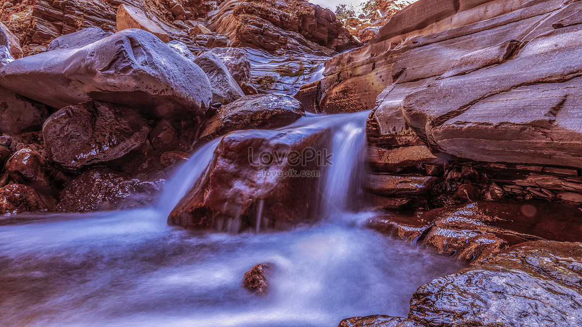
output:
<svg viewBox="0 0 582 327"><path fill-rule="evenodd" d="M42 134L49 158L65 169L79 171L147 150L150 130L132 109L90 101L52 114Z"/></svg>

